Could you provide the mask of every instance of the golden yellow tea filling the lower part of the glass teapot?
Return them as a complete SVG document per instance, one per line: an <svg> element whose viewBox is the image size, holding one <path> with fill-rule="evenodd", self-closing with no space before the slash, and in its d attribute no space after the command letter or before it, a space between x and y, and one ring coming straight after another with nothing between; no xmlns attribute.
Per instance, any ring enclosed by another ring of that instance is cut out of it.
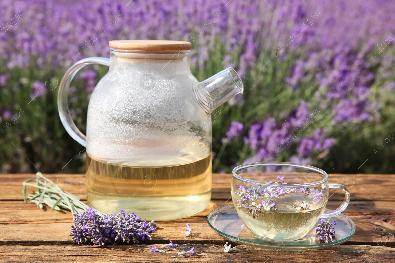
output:
<svg viewBox="0 0 395 263"><path fill-rule="evenodd" d="M87 155L87 195L92 208L119 209L144 220L174 220L203 211L211 199L211 153L171 166L125 166Z"/></svg>

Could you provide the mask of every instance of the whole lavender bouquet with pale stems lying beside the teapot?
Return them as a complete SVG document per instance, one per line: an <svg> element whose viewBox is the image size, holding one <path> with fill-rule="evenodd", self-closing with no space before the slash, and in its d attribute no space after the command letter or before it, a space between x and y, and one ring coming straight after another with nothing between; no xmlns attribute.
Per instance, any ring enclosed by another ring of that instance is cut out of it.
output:
<svg viewBox="0 0 395 263"><path fill-rule="evenodd" d="M38 190L34 194L28 194L26 193L27 186L38 188ZM159 228L154 221L147 223L134 213L129 215L120 210L120 213L108 216L94 211L77 196L60 189L41 172L36 173L36 180L28 179L23 182L23 197L25 202L36 203L41 209L45 204L51 207L51 211L53 209L60 211L61 208L70 210L74 223L71 226L70 235L78 244L92 242L103 246L107 243L138 243L151 240L149 233Z"/></svg>

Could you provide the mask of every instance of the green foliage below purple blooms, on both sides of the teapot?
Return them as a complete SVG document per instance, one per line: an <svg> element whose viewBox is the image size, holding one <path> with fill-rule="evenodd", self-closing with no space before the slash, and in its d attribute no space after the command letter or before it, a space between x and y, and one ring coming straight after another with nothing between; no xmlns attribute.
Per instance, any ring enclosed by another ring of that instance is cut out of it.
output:
<svg viewBox="0 0 395 263"><path fill-rule="evenodd" d="M192 73L199 80L204 80L228 67L223 59L226 55L224 50L220 43L211 48L210 60L205 69L192 68ZM238 54L232 54L235 61L237 56ZM303 56L304 50L289 53L285 59L275 57L273 52L261 52L254 67L243 78L244 104L226 103L219 108L220 113L213 116L213 151L218 153L213 159L213 171L231 172L232 165L241 164L243 160L254 155L254 150L243 142L248 127L269 117L274 117L281 123L303 99L310 103L310 112L319 109L320 114L317 114L312 124L303 129L300 136L312 134L317 128L325 128L329 136L337 139L337 145L329 153L318 153L314 165L330 173L394 173L395 164L391 159L395 154L395 140L387 143L380 152L376 153L373 149L378 149L377 144L387 138L388 134L395 134L395 98L382 89L395 76L378 77L371 85L372 101L382 104L380 118L366 123L333 127L331 108L325 108L322 102L316 100L315 94L320 90L318 83L314 81L314 72L309 73L311 76L304 78L304 82L299 83L297 89L291 89L284 81L290 76L297 58ZM393 72L393 67L393 63L373 63L372 71L379 76L383 71ZM107 72L107 67L104 66L96 65L94 69L98 73L98 79ZM6 127L0 134L1 172L85 172L85 149L67 134L58 116L56 96L64 72L65 70L52 68L7 70L4 66L0 67L0 74L6 73L9 78L6 87L0 88L0 110L11 110L12 114L23 111L17 122ZM32 99L31 84L35 80L45 82L48 91L46 95ZM88 95L81 79L73 80L72 84L76 87L72 96L77 100L70 108L77 110L74 121L85 133ZM226 137L225 133L233 120L244 123L243 133L231 142L222 144L221 140ZM5 127L6 121L1 121L1 127ZM291 148L282 151L276 160L288 161L294 150Z"/></svg>

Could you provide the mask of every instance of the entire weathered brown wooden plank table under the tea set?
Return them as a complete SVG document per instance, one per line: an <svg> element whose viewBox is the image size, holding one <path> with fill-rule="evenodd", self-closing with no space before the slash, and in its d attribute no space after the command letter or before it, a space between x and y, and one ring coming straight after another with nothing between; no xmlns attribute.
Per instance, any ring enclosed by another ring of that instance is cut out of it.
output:
<svg viewBox="0 0 395 263"><path fill-rule="evenodd" d="M86 200L85 175L50 176L60 188ZM22 182L28 178L35 178L35 175L0 175L0 262L395 262L395 175L329 175L329 183L343 183L351 192L352 201L344 215L355 222L357 231L342 245L292 252L232 244L232 253L224 253L226 241L206 222L213 209L231 203L229 174L213 175L212 200L202 213L186 219L158 222L160 229L152 235L150 242L104 247L78 245L71 241L70 212L50 212L33 203L24 203ZM339 206L343 200L343 194L335 191L329 199L329 209ZM184 237L186 222L199 234ZM179 244L179 248L166 254L149 252L154 244L161 247L169 239ZM180 250L186 251L192 245L194 256L177 257Z"/></svg>

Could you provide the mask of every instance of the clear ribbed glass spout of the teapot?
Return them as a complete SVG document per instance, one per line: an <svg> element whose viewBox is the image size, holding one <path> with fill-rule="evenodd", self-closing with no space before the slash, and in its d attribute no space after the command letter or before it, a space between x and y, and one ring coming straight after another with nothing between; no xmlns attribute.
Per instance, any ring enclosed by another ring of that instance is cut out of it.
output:
<svg viewBox="0 0 395 263"><path fill-rule="evenodd" d="M196 99L207 114L211 114L231 97L243 93L243 91L243 82L237 72L231 67L202 82L198 82L194 86Z"/></svg>

